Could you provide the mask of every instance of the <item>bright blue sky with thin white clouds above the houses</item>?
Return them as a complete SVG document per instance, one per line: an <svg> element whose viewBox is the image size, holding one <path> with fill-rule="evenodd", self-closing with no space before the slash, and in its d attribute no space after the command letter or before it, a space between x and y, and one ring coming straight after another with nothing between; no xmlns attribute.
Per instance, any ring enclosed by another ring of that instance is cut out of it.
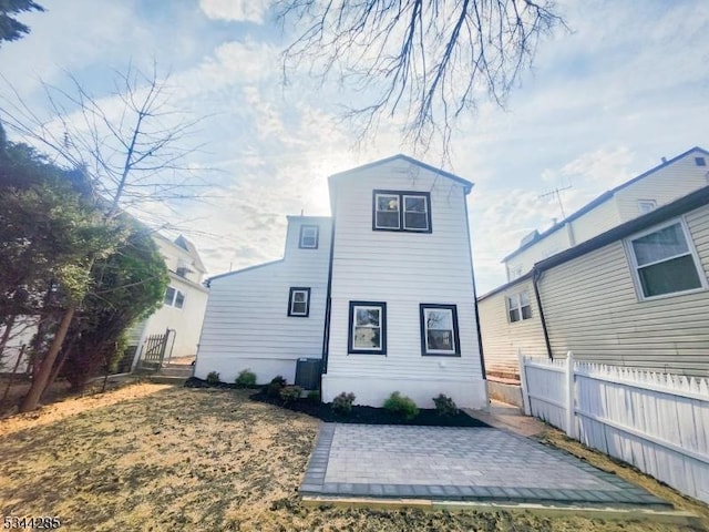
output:
<svg viewBox="0 0 709 532"><path fill-rule="evenodd" d="M43 83L71 74L113 105L114 72L131 63L169 71L172 104L204 117L193 168L214 194L147 211L191 238L209 275L280 258L286 216L329 215L327 177L413 153L391 124L360 139L340 120L361 98L307 70L284 85L281 28L266 0L40 0L25 38L0 48L0 98L12 86L38 115ZM479 294L505 282L501 259L533 229L690 147L709 149L709 6L706 0L564 0L568 30L537 49L505 109L483 102L459 123L444 170L472 181L469 196ZM296 28L297 29L297 28ZM18 140L18 139L13 139ZM145 209L144 209L145 211ZM140 214L138 214L140 216Z"/></svg>

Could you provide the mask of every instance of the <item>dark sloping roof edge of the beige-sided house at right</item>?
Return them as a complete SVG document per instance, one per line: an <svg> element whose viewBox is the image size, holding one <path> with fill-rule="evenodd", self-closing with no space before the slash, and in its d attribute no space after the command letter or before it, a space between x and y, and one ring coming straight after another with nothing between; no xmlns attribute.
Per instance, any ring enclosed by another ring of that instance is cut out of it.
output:
<svg viewBox="0 0 709 532"><path fill-rule="evenodd" d="M707 204L709 204L709 186L702 186L701 188L691 192L678 200L675 200L671 203L659 206L647 214L638 216L637 218L633 218L624 224L617 225L612 229L594 236L588 241L582 242L574 247L569 247L568 249L540 260L532 267L530 272L527 272L523 276L492 289L487 294L480 296L477 300L485 299L516 285L517 283L527 280L534 277L535 273L544 272L546 269L553 268L554 266L558 266L559 264L567 263L568 260L580 257L582 255L586 255L587 253L594 252L603 246L626 238L635 233L639 233L640 231L653 227L654 225L661 224L662 222L666 222L676 216L680 216Z"/></svg>

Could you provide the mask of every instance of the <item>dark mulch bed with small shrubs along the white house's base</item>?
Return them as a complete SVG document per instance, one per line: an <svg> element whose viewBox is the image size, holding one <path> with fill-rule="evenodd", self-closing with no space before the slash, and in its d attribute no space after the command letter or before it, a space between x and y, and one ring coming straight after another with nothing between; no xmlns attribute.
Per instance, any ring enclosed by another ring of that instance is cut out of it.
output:
<svg viewBox="0 0 709 532"><path fill-rule="evenodd" d="M235 385L219 382L210 386L196 377L185 382L189 388L237 388ZM352 406L352 410L342 416L335 412L329 403L322 403L318 400L301 398L292 402L284 403L279 398L268 396L261 389L249 396L249 399L257 402L265 402L276 407L286 408L295 412L306 413L314 418L321 419L330 423L361 423L361 424L411 424L423 427L490 427L477 419L471 418L464 412L458 412L455 416L439 416L435 409L419 409L419 415L413 419L403 419L389 410L374 407Z"/></svg>

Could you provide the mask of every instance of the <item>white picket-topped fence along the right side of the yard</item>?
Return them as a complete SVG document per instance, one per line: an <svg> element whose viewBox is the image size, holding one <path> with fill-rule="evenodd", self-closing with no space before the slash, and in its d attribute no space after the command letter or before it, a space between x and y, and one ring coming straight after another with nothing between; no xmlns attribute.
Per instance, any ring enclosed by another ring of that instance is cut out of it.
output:
<svg viewBox="0 0 709 532"><path fill-rule="evenodd" d="M709 379L520 355L527 416L709 503Z"/></svg>

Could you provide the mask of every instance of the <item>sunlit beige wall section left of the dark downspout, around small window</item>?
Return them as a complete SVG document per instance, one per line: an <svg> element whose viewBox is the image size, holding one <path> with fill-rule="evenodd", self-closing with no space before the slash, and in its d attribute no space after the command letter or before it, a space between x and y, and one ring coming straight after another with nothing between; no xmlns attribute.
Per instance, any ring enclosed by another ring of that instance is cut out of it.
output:
<svg viewBox="0 0 709 532"><path fill-rule="evenodd" d="M523 290L530 295L532 317L510 323L506 298ZM505 290L481 298L477 310L487 375L518 379L520 350L531 357L547 356L540 308L531 279L521 280Z"/></svg>

